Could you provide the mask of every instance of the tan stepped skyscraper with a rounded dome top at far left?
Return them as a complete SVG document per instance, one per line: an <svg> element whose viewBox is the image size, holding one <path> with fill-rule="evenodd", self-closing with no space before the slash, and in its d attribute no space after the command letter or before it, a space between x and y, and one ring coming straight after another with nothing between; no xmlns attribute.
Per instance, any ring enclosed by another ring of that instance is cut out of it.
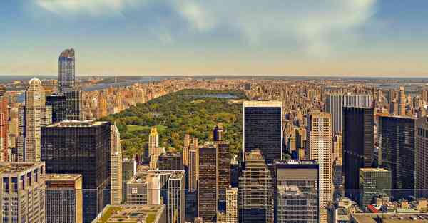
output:
<svg viewBox="0 0 428 223"><path fill-rule="evenodd" d="M25 92L25 105L19 108L19 135L16 140L18 161L40 161L40 128L52 122L52 110L46 106L44 88L31 79Z"/></svg>

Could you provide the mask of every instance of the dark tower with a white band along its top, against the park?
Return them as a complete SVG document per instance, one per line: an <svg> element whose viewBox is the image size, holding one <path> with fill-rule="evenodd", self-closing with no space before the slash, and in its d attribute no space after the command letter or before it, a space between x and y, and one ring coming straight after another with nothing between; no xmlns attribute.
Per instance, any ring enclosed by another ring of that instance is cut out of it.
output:
<svg viewBox="0 0 428 223"><path fill-rule="evenodd" d="M245 101L243 115L243 152L260 149L272 170L282 158L282 102Z"/></svg>

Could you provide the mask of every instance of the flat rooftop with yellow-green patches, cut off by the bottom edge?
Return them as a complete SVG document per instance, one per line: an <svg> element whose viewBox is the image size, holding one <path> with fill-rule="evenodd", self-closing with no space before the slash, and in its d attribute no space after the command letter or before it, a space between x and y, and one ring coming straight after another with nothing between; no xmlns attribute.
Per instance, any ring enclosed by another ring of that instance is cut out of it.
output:
<svg viewBox="0 0 428 223"><path fill-rule="evenodd" d="M107 205L93 223L157 223L165 205Z"/></svg>

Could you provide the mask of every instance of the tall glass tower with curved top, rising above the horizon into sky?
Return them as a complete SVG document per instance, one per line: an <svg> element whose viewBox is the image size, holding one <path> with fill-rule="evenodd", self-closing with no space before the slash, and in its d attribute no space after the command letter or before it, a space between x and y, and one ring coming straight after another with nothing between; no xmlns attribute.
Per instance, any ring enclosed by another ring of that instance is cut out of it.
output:
<svg viewBox="0 0 428 223"><path fill-rule="evenodd" d="M76 82L76 58L73 48L61 52L58 59L58 91L64 93L74 88Z"/></svg>

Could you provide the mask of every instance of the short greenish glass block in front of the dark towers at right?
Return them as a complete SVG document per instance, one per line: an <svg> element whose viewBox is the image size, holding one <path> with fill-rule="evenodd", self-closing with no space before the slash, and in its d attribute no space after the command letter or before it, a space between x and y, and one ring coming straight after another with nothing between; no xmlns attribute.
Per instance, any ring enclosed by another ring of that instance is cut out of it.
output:
<svg viewBox="0 0 428 223"><path fill-rule="evenodd" d="M373 204L377 195L390 194L391 172L380 168L360 168L360 205Z"/></svg>

